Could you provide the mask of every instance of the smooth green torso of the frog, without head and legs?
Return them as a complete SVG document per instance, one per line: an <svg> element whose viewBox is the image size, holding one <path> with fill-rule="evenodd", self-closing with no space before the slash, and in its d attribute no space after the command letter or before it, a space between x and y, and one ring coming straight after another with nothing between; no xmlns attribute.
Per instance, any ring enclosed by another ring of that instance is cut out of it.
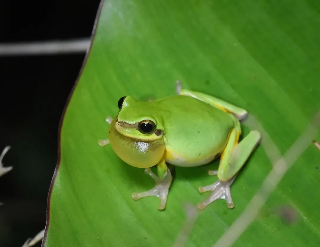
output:
<svg viewBox="0 0 320 247"><path fill-rule="evenodd" d="M177 166L200 166L224 149L236 121L231 113L189 96L168 96L161 104L166 161Z"/></svg>

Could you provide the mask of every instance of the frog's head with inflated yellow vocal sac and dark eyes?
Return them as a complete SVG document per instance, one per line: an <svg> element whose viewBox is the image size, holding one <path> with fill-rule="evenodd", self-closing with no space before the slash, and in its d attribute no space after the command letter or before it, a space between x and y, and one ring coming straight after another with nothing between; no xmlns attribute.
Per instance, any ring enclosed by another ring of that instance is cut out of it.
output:
<svg viewBox="0 0 320 247"><path fill-rule="evenodd" d="M119 113L109 130L112 149L126 163L147 168L164 156L163 125L148 102L131 96L118 101Z"/></svg>

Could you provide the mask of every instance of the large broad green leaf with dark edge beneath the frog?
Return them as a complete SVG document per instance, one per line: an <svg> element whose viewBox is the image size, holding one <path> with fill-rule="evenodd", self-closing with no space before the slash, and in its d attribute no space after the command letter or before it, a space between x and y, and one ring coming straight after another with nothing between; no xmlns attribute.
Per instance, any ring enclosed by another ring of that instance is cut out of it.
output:
<svg viewBox="0 0 320 247"><path fill-rule="evenodd" d="M97 144L108 137L105 118L116 116L120 97L172 95L180 80L248 110L284 154L320 109L320 4L106 0L98 18L62 121L44 246L212 246L259 190L276 151L258 146L231 187L234 209L224 200L195 209L209 196L198 186L216 181L207 174L214 161L175 167L167 207L159 211L156 197L131 198L154 185L143 169ZM320 245L320 152L311 143L320 136L308 138L234 246Z"/></svg>

